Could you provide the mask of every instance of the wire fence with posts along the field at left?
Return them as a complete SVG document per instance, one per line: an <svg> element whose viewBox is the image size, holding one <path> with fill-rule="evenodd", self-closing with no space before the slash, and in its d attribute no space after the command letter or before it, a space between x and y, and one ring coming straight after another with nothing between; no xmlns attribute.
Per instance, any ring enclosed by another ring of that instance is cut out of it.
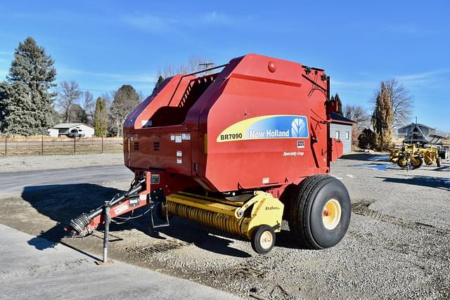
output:
<svg viewBox="0 0 450 300"><path fill-rule="evenodd" d="M0 156L122 152L123 138L0 138Z"/></svg>

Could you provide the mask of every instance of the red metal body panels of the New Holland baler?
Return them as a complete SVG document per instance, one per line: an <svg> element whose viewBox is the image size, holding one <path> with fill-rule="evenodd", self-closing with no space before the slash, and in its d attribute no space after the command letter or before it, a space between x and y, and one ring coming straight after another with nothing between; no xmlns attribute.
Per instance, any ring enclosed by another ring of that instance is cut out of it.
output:
<svg viewBox="0 0 450 300"><path fill-rule="evenodd" d="M184 78L168 81L127 119L125 138L139 141L139 150L130 144L131 154L126 155L131 169L164 169L218 191L298 183L305 176L328 173L330 120L323 70L256 54L235 58L188 107L184 122L141 128L141 122L160 107L180 103L192 80ZM306 126L303 136L295 137L296 122ZM250 130L252 126L262 129ZM242 138L221 141L223 133L236 136L236 128ZM179 133L190 133L190 140L171 141L171 135ZM255 134L265 136L255 138ZM153 150L156 140L160 151ZM178 151L182 152L179 163Z"/></svg>

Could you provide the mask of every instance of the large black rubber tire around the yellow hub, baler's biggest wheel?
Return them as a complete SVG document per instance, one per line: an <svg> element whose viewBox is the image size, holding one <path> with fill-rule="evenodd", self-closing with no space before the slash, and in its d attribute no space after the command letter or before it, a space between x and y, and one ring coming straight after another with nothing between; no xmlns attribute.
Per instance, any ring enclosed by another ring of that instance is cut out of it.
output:
<svg viewBox="0 0 450 300"><path fill-rule="evenodd" d="M338 225L330 230L323 225L322 214L331 199L339 202L341 217ZM352 214L347 188L338 179L326 175L304 179L288 209L290 231L303 249L326 249L338 244L347 233Z"/></svg>

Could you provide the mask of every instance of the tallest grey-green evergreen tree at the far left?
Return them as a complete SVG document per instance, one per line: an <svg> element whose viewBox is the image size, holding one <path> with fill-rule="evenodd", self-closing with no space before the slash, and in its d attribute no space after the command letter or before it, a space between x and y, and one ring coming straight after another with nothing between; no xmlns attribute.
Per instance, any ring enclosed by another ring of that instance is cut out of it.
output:
<svg viewBox="0 0 450 300"><path fill-rule="evenodd" d="M31 37L19 43L6 82L0 85L0 121L5 132L23 136L46 134L53 125L53 63L44 47Z"/></svg>

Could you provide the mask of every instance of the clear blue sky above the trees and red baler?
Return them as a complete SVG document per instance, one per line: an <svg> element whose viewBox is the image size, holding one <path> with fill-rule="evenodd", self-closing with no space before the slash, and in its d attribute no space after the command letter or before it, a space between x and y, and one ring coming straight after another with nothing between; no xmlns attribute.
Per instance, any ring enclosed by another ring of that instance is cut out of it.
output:
<svg viewBox="0 0 450 300"><path fill-rule="evenodd" d="M332 93L369 110L380 80L397 78L418 121L450 131L449 1L5 2L0 80L27 36L54 58L58 81L95 96L122 84L148 95L158 67L190 56L219 65L261 53L326 69Z"/></svg>

